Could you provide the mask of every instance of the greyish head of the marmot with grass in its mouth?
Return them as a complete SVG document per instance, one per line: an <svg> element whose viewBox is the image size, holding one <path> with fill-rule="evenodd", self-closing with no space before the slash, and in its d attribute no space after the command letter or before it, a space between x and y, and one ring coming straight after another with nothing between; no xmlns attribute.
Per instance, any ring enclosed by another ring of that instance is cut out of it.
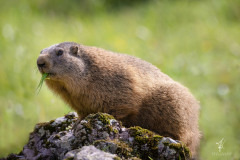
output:
<svg viewBox="0 0 240 160"><path fill-rule="evenodd" d="M39 71L48 73L47 81L75 81L82 76L85 65L80 58L80 45L63 42L43 49L37 59Z"/></svg>

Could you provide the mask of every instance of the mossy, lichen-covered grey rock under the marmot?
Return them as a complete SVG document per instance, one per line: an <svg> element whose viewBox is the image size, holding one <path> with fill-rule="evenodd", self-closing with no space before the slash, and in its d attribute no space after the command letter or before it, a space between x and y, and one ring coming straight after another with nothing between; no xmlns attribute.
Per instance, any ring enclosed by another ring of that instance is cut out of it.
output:
<svg viewBox="0 0 240 160"><path fill-rule="evenodd" d="M189 149L181 142L138 126L125 128L109 114L90 114L79 120L71 112L37 124L23 150L1 160L183 160L190 156Z"/></svg>

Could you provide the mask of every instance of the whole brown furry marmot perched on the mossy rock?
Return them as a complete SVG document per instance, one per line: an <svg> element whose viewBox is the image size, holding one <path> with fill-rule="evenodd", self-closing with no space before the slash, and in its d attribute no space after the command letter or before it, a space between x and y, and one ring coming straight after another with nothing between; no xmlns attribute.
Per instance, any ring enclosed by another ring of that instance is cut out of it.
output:
<svg viewBox="0 0 240 160"><path fill-rule="evenodd" d="M141 126L184 142L196 154L199 103L187 88L139 58L63 42L43 49L47 86L84 118L105 112L126 127Z"/></svg>

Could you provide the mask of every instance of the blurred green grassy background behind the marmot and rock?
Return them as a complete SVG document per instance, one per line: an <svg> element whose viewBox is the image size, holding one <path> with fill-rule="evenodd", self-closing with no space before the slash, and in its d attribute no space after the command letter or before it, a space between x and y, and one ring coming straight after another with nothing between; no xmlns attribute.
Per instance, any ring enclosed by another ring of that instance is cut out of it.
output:
<svg viewBox="0 0 240 160"><path fill-rule="evenodd" d="M39 52L63 41L153 63L201 103L200 158L240 159L239 0L1 1L0 157L71 111L45 85L36 94Z"/></svg>

